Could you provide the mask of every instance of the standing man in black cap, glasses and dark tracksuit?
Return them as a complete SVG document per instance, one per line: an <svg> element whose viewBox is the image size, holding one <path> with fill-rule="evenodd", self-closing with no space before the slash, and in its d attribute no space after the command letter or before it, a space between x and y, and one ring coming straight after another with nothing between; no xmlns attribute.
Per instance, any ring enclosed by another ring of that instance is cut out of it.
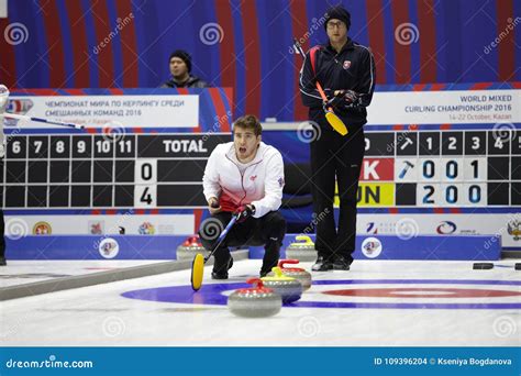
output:
<svg viewBox="0 0 521 376"><path fill-rule="evenodd" d="M313 211L317 224L315 248L319 257L314 272L348 270L356 239L358 178L364 158L363 125L366 107L375 89L375 62L370 51L347 36L351 14L342 7L325 13L329 43L311 48L300 71L300 92L309 107L309 119L318 136L310 144ZM317 80L347 128L342 136L328 123ZM340 218L336 228L333 211L335 181L339 185Z"/></svg>

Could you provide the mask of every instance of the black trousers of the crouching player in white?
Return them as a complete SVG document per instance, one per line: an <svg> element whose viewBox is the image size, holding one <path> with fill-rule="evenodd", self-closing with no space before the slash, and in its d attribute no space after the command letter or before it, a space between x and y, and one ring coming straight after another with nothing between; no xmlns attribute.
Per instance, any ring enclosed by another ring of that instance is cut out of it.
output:
<svg viewBox="0 0 521 376"><path fill-rule="evenodd" d="M213 250L220 232L231 221L231 212L220 212L202 221L199 229L201 243L207 250ZM217 222L218 221L218 222ZM217 226L215 226L217 224ZM217 232L214 230L218 230ZM260 274L270 272L277 265L286 234L286 220L279 211L270 211L262 218L248 218L242 223L235 223L228 233L223 244L213 254L215 263L213 272L223 273L228 270L230 259L230 246L260 246L264 245L264 258Z"/></svg>

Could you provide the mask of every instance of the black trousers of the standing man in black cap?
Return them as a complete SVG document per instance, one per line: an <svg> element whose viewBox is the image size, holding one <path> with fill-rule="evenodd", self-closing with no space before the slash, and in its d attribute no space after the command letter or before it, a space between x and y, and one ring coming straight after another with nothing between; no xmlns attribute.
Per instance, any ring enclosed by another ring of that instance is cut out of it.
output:
<svg viewBox="0 0 521 376"><path fill-rule="evenodd" d="M333 261L344 256L352 262L356 240L356 203L358 178L364 158L364 130L350 128L342 136L323 126L320 137L311 142L311 183L317 222L315 248L319 256ZM336 177L336 179L335 179ZM335 225L333 200L339 184L340 217Z"/></svg>

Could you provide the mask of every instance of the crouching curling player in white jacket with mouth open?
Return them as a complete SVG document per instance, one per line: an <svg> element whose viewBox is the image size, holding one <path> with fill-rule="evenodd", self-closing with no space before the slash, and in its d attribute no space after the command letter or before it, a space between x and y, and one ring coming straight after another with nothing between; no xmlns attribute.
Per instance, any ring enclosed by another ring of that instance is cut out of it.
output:
<svg viewBox="0 0 521 376"><path fill-rule="evenodd" d="M278 263L286 234L286 221L278 210L284 163L279 151L260 141L262 131L256 117L237 119L233 142L219 144L204 169L203 193L212 217L199 229L202 245L212 250L232 214L237 215L235 225L214 253L213 279L228 279L233 265L229 246L264 245L262 277Z"/></svg>

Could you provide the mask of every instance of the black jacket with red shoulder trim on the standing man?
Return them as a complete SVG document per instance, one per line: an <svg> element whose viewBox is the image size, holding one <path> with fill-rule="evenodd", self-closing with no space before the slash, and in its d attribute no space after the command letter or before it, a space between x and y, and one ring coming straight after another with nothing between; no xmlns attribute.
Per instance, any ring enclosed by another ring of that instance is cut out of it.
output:
<svg viewBox="0 0 521 376"><path fill-rule="evenodd" d="M302 102L309 107L309 119L326 124L323 101L317 90L319 80L325 95L331 98L335 90L354 90L361 97L351 108L335 109L347 129L362 126L367 122L366 107L370 104L375 90L375 59L368 47L347 38L340 53L331 44L312 47L300 70L300 93Z"/></svg>

